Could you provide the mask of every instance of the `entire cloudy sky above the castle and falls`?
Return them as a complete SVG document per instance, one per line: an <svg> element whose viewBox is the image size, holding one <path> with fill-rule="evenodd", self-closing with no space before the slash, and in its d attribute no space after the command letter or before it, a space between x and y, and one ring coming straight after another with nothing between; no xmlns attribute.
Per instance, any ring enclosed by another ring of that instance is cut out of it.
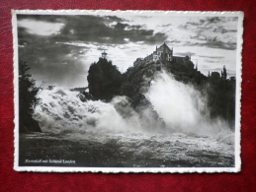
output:
<svg viewBox="0 0 256 192"><path fill-rule="evenodd" d="M235 76L237 17L103 12L17 15L19 61L38 84L87 87L90 65L106 50L121 72L166 42L175 56L191 55L205 75L226 66Z"/></svg>

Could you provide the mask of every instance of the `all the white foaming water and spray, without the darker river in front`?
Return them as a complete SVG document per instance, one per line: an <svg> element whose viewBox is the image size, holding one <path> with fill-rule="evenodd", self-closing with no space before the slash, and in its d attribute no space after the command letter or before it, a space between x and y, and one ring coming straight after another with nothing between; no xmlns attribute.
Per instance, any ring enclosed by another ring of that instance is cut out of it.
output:
<svg viewBox="0 0 256 192"><path fill-rule="evenodd" d="M193 135L212 135L216 140L233 143L233 134L224 129L222 121L210 122L206 114L205 98L193 87L175 81L165 72L156 75L145 95L154 110L165 122L150 116L150 109L132 109L126 96L116 96L110 103L88 100L82 102L78 92L54 88L43 90L41 103L34 117L43 132L76 134L168 134L180 132ZM89 135L88 135L89 136ZM128 137L129 137L128 136ZM151 137L149 136L149 137ZM132 137L132 136L131 136ZM231 140L231 141L230 141Z"/></svg>

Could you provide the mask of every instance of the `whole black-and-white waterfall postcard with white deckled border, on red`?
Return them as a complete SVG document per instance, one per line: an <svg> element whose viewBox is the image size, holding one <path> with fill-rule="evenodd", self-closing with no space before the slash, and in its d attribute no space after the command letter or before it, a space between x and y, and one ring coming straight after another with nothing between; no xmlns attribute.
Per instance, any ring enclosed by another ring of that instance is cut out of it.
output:
<svg viewBox="0 0 256 192"><path fill-rule="evenodd" d="M240 170L241 12L13 11L16 170Z"/></svg>

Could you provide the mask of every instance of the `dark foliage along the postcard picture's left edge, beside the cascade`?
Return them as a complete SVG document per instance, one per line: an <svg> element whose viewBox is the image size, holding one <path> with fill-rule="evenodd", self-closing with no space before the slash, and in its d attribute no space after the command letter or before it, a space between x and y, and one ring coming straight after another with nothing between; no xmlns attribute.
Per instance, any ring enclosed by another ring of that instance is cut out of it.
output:
<svg viewBox="0 0 256 192"><path fill-rule="evenodd" d="M39 103L37 97L40 89L36 87L36 80L31 79L30 70L26 62L19 63L19 131L41 132L40 125L32 115L36 104Z"/></svg>

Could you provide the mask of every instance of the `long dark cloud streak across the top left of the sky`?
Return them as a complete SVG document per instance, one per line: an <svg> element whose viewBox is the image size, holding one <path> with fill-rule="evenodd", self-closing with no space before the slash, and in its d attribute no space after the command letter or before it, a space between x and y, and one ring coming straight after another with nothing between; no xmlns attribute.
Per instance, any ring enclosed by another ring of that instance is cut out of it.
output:
<svg viewBox="0 0 256 192"><path fill-rule="evenodd" d="M162 42L167 38L163 32L154 33L143 26L129 25L126 20L116 16L47 16L19 15L18 20L36 20L50 23L62 23L63 28L51 36L56 41L97 41L106 43L126 43L144 41L145 43Z"/></svg>

